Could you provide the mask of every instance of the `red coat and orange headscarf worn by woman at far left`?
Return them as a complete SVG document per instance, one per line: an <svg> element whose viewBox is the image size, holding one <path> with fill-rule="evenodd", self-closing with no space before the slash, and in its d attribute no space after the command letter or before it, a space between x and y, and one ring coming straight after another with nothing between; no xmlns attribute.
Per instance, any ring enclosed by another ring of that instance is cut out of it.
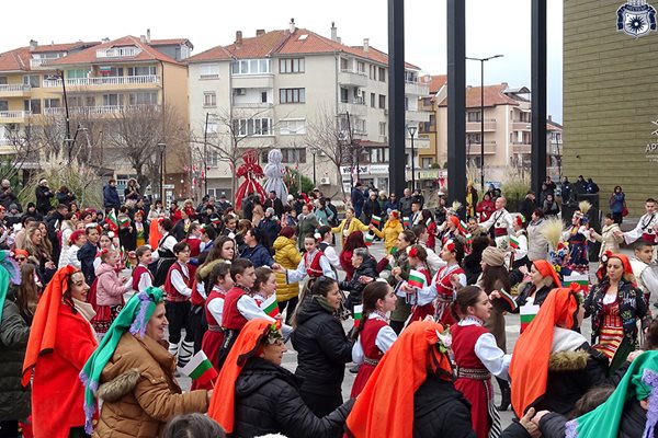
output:
<svg viewBox="0 0 658 438"><path fill-rule="evenodd" d="M91 304L63 300L72 266L58 269L42 295L23 361L23 388L32 378L35 437L68 438L84 426L84 388L78 374L97 348Z"/></svg>

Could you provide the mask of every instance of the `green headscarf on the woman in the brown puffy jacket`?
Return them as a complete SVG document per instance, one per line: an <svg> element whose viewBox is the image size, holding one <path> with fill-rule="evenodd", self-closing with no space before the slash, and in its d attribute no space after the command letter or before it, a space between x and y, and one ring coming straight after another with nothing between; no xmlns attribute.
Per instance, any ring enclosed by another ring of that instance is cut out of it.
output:
<svg viewBox="0 0 658 438"><path fill-rule="evenodd" d="M80 380L84 384L84 430L89 435L93 431L91 419L97 411L97 392L105 365L114 356L124 333L131 331L133 335L139 335L139 337L146 335L148 321L156 311L156 306L162 302L162 289L156 287L149 287L143 292L135 293L118 312L101 344L80 371Z"/></svg>

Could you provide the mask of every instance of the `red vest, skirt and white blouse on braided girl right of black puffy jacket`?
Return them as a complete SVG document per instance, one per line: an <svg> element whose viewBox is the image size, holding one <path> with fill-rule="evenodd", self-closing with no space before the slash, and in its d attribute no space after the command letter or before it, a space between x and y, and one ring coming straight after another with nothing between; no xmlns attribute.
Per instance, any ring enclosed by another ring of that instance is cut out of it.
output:
<svg viewBox="0 0 658 438"><path fill-rule="evenodd" d="M352 385L352 393L350 394L352 399L363 391L375 367L397 339L397 334L388 325L388 320L384 313L374 311L367 315L362 324L359 338L352 347L352 361L361 365Z"/></svg>

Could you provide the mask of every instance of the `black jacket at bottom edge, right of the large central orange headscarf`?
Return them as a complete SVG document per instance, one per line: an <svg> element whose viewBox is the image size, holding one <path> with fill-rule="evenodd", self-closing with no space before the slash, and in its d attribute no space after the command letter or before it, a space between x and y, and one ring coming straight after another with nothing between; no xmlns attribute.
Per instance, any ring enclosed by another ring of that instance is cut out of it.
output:
<svg viewBox="0 0 658 438"><path fill-rule="evenodd" d="M475 438L470 404L452 382L428 376L413 394L413 438Z"/></svg>

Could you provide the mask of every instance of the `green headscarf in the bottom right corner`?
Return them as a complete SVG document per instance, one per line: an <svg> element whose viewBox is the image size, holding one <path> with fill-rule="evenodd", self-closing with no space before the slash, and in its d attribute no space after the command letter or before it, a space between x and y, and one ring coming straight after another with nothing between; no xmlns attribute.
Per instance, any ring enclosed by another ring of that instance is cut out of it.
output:
<svg viewBox="0 0 658 438"><path fill-rule="evenodd" d="M567 423L567 438L616 438L624 405L649 400L643 437L654 437L658 422L658 351L645 351L633 362L612 395L594 411Z"/></svg>

